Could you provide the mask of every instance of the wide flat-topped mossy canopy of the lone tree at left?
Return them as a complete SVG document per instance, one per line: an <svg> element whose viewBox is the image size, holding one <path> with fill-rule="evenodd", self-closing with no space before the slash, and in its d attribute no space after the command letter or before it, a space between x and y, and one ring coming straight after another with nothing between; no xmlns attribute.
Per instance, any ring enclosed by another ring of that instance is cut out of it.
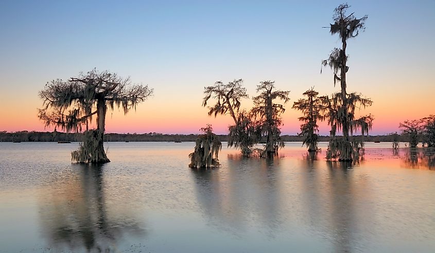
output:
<svg viewBox="0 0 435 253"><path fill-rule="evenodd" d="M153 89L148 86L132 84L130 78L123 79L116 73L93 69L67 81L56 79L47 82L39 92L43 108L39 109L38 116L46 126L56 125L67 132L78 132L92 122L93 116L98 113L99 101L104 107L112 110L122 108L127 113L152 92Z"/></svg>

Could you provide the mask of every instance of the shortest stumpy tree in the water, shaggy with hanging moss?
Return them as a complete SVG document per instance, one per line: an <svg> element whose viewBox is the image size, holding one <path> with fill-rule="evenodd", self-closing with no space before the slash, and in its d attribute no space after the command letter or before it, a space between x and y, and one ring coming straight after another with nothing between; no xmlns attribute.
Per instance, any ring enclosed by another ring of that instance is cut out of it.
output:
<svg viewBox="0 0 435 253"><path fill-rule="evenodd" d="M218 167L219 151L222 149L222 143L216 134L213 133L211 125L200 129L203 134L199 135L196 140L195 151L189 154L190 168L210 168Z"/></svg>

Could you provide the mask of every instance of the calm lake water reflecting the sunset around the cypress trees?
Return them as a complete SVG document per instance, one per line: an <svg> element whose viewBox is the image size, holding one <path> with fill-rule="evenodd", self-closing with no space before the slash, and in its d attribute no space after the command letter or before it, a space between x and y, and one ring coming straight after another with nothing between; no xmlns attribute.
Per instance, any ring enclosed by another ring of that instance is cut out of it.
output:
<svg viewBox="0 0 435 253"><path fill-rule="evenodd" d="M91 167L77 143L0 143L0 252L435 252L426 149L368 143L352 165L223 143L221 167L193 170L194 143L105 145Z"/></svg>

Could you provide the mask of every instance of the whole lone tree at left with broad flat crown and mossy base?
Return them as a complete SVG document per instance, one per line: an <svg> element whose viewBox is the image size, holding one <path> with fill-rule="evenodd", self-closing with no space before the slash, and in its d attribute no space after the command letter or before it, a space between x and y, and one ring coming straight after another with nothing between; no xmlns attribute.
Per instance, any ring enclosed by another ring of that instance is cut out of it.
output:
<svg viewBox="0 0 435 253"><path fill-rule="evenodd" d="M39 92L44 101L38 116L46 126L55 125L63 130L81 131L86 126L83 142L73 151L72 160L80 163L110 162L103 147L106 112L115 107L124 113L136 108L136 104L145 101L152 89L143 85L131 85L129 78L123 79L108 71L93 69L71 77L47 82ZM96 129L88 126L96 115Z"/></svg>

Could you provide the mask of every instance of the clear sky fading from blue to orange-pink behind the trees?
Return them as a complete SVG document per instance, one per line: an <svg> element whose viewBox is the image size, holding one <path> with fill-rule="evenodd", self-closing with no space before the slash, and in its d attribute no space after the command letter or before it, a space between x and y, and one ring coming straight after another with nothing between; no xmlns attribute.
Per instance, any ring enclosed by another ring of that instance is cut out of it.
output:
<svg viewBox="0 0 435 253"><path fill-rule="evenodd" d="M320 74L320 62L340 46L322 26L341 3L2 1L0 131L44 130L38 91L96 67L154 88L136 111L109 111L108 132L198 133L210 123L227 133L230 116L215 119L201 107L203 87L241 78L251 96L263 80L291 91L282 132L296 134L293 102L311 86L339 90L332 71ZM347 86L373 100L361 112L374 114L371 134L435 114L435 1L349 4L357 17L369 15L366 31L347 44Z"/></svg>

